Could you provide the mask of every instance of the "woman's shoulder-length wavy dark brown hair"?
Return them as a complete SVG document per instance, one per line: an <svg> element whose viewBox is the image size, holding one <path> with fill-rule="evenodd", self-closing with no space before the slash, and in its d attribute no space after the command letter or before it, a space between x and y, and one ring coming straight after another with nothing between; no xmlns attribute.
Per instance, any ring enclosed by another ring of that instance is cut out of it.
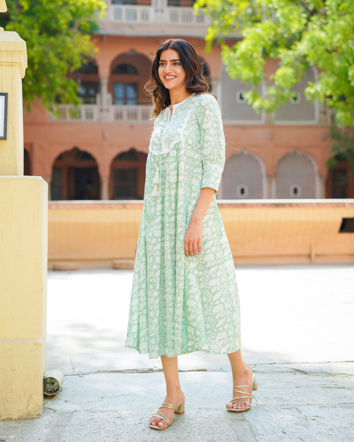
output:
<svg viewBox="0 0 354 442"><path fill-rule="evenodd" d="M179 60L186 74L187 92L190 94L202 94L209 90L209 83L203 75L202 64L193 46L181 39L171 38L166 40L156 52L151 66L151 77L144 86L145 92L154 99L155 107L152 111L153 118L156 118L161 111L171 104L170 92L162 84L158 75L161 53L167 49L174 49L179 55Z"/></svg>

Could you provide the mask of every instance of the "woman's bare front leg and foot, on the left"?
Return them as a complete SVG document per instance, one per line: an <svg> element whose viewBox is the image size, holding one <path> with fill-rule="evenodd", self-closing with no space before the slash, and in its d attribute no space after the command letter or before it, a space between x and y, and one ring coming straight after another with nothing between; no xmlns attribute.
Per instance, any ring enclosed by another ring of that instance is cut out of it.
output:
<svg viewBox="0 0 354 442"><path fill-rule="evenodd" d="M166 356L161 356L161 362L166 380L167 393L163 403L177 406L184 401L184 394L179 385L177 356L175 358L166 358ZM173 409L162 408L160 411L169 418L170 422L172 422L175 413ZM167 422L158 417L151 417L149 424L158 425L161 428L167 427Z"/></svg>

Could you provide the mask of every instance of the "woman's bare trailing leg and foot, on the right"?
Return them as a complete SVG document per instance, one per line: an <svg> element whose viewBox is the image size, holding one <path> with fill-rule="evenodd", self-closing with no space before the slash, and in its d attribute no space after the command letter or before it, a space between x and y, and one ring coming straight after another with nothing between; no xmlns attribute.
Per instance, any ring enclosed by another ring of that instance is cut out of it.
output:
<svg viewBox="0 0 354 442"><path fill-rule="evenodd" d="M233 385L251 385L252 384L252 369L247 364L243 362L241 349L237 350L237 352L229 353L228 357L231 363L231 369L233 373ZM250 388L237 388L240 391L244 391L245 393L250 393ZM233 392L233 396L240 396L240 393ZM247 401L248 404L251 402L251 399L242 398L240 401ZM249 405L244 402L234 402L226 405L226 408L237 408L237 409L248 409Z"/></svg>

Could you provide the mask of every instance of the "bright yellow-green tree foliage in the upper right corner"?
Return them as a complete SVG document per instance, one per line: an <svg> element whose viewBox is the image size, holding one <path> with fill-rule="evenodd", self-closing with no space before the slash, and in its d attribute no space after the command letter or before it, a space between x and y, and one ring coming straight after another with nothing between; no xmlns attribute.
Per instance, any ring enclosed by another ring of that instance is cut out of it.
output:
<svg viewBox="0 0 354 442"><path fill-rule="evenodd" d="M207 48L215 40L222 44L228 74L252 84L244 96L256 110L273 112L287 103L305 71L316 66L318 80L308 83L306 98L326 104L339 126L353 125L353 0L197 0L195 7L212 18ZM232 35L238 41L227 44ZM259 85L269 60L278 64L263 97Z"/></svg>

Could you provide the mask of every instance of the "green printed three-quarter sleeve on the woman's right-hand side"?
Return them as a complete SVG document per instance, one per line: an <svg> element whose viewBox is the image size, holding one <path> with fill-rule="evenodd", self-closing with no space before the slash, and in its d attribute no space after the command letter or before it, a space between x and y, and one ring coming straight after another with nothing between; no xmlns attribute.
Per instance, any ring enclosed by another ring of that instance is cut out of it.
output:
<svg viewBox="0 0 354 442"><path fill-rule="evenodd" d="M217 193L225 165L225 136L220 107L210 94L203 94L200 99L198 123L204 169L201 188L210 187Z"/></svg>

